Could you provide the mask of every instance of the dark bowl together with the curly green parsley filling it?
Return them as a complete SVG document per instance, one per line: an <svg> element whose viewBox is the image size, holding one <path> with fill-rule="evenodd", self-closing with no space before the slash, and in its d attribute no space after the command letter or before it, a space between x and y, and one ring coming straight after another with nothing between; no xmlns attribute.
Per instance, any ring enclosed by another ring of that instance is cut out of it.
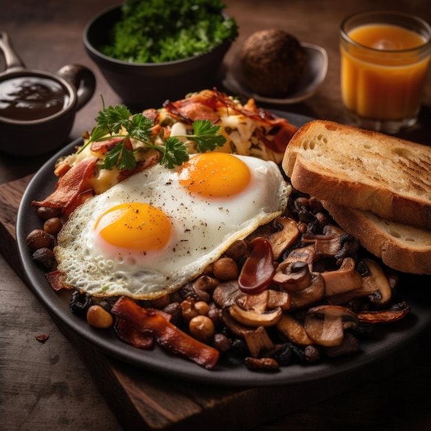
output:
<svg viewBox="0 0 431 431"><path fill-rule="evenodd" d="M161 106L212 88L235 19L220 0L127 0L87 24L85 50L129 107Z"/></svg>

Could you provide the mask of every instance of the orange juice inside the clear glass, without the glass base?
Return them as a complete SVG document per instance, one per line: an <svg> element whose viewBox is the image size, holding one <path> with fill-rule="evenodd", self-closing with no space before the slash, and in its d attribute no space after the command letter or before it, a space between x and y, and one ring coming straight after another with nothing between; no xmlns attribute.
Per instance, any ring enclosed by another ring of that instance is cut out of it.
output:
<svg viewBox="0 0 431 431"><path fill-rule="evenodd" d="M416 116L430 61L418 48L426 41L416 32L387 24L359 25L347 35L353 43L341 43L346 107L377 120Z"/></svg>

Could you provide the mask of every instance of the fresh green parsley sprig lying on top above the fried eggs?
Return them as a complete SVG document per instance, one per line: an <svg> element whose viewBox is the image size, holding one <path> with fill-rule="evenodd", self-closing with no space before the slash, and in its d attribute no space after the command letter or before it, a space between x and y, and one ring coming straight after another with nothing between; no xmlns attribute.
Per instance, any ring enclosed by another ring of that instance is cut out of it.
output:
<svg viewBox="0 0 431 431"><path fill-rule="evenodd" d="M215 126L209 120L196 120L193 122L193 134L170 136L165 140L164 145L156 145L151 141L151 129L154 123L143 114L134 114L125 105L115 107L105 107L98 112L96 117L97 125L88 142L78 152L92 142L101 142L109 138L123 138L111 150L105 154L103 169L116 167L119 170L132 170L136 166L137 160L135 151L127 146L129 138L134 138L143 143L145 149L157 149L162 153L160 165L168 169L182 165L189 160L187 147L178 137L185 137L194 140L196 149L199 152L213 151L217 147L222 147L226 138L220 134L221 127ZM109 136L109 137L107 137Z"/></svg>

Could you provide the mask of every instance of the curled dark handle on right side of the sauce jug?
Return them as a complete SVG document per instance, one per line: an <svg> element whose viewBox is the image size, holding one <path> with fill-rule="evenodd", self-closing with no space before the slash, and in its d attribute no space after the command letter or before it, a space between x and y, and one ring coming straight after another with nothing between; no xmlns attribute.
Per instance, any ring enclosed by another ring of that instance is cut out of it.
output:
<svg viewBox="0 0 431 431"><path fill-rule="evenodd" d="M68 64L61 67L57 74L76 88L76 111L90 101L96 90L96 77L90 69L83 65Z"/></svg>

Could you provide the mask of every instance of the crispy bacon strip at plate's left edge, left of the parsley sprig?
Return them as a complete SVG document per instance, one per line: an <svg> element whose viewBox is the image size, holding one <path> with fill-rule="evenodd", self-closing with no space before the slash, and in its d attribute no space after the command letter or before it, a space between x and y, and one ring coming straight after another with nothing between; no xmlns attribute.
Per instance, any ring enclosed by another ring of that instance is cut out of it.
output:
<svg viewBox="0 0 431 431"><path fill-rule="evenodd" d="M92 176L97 157L85 158L71 167L56 183L56 189L44 200L33 201L39 207L54 207L67 210L74 200L85 191L85 182Z"/></svg>

